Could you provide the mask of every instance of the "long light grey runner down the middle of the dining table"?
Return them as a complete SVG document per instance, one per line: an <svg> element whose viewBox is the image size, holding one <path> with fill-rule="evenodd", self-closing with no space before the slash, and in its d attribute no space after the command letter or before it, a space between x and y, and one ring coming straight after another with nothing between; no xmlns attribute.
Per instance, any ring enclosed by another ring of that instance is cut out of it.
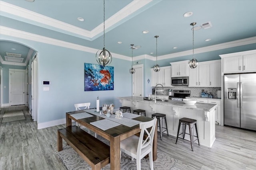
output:
<svg viewBox="0 0 256 170"><path fill-rule="evenodd" d="M114 114L111 115L110 117L106 117L105 115L100 115L100 112L94 111L94 109L88 109L88 110L86 110L86 112L91 113L93 115L103 117L105 119L109 119L111 121L114 121L116 123L120 123L122 125L126 125L128 127L133 127L135 125L140 124L140 122L141 122L141 121L129 119L129 118L126 118L126 117L123 117L122 119L117 119L117 118L115 118L116 115L114 115Z"/></svg>

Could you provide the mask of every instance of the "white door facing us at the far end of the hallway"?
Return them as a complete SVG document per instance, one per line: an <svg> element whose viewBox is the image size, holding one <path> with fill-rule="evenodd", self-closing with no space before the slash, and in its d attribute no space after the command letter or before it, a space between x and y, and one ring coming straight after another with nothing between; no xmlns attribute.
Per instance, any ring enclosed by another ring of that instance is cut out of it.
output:
<svg viewBox="0 0 256 170"><path fill-rule="evenodd" d="M26 70L9 69L9 104L25 104L25 72Z"/></svg>

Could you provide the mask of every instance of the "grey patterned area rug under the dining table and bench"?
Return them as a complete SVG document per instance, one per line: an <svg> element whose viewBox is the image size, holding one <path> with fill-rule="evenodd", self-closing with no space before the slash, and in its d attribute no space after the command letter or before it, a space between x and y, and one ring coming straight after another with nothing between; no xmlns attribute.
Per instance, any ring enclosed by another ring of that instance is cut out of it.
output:
<svg viewBox="0 0 256 170"><path fill-rule="evenodd" d="M98 135L97 138L109 145L109 142L103 137ZM91 167L76 153L76 151L69 145L66 145L66 142L63 142L63 150L60 152L57 151L57 143L53 143L51 146L68 170L91 170ZM154 170L170 170L175 166L176 162L177 160L174 158L157 150L157 159L153 163ZM131 160L130 156L122 152L120 169L136 170L136 159ZM141 160L141 169L150 169L149 158L143 158ZM102 170L110 170L110 164L104 166Z"/></svg>

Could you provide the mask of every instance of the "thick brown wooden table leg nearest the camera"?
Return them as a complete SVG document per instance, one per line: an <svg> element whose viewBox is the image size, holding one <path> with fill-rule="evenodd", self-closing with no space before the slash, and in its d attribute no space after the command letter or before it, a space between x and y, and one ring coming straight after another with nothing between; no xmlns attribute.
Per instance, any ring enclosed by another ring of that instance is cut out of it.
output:
<svg viewBox="0 0 256 170"><path fill-rule="evenodd" d="M110 170L120 170L120 135L110 136Z"/></svg>

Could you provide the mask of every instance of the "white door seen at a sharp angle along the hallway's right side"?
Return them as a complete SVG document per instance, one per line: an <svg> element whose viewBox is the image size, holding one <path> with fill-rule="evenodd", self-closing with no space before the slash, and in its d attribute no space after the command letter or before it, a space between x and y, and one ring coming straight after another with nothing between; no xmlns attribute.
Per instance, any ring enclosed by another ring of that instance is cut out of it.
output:
<svg viewBox="0 0 256 170"><path fill-rule="evenodd" d="M37 57L31 63L31 114L34 121L38 121L38 75Z"/></svg>

